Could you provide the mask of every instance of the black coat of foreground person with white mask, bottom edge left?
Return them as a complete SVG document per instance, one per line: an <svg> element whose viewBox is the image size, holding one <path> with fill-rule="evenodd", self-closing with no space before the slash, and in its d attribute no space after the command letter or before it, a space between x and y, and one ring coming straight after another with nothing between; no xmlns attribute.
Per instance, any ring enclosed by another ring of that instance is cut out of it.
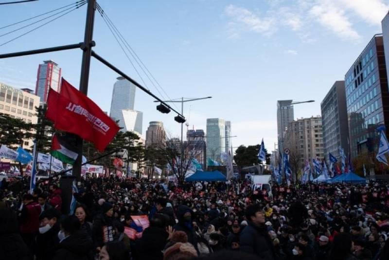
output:
<svg viewBox="0 0 389 260"><path fill-rule="evenodd" d="M92 250L92 240L79 230L59 243L53 260L88 260Z"/></svg>

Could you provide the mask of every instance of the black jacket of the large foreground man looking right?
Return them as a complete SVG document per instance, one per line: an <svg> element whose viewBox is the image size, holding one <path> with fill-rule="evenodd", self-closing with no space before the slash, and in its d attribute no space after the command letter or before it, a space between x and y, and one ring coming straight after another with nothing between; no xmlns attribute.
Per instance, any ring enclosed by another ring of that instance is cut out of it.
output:
<svg viewBox="0 0 389 260"><path fill-rule="evenodd" d="M257 255L261 260L275 259L273 243L267 234L265 225L258 227L248 222L248 226L242 230L240 235L240 250Z"/></svg>

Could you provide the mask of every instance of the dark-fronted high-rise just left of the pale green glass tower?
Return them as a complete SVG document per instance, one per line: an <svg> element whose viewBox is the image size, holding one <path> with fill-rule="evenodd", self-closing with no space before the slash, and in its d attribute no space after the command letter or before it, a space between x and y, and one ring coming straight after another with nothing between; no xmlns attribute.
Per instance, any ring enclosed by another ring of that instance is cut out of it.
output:
<svg viewBox="0 0 389 260"><path fill-rule="evenodd" d="M197 130L187 130L186 132L186 142L184 147L191 150L191 153L194 155L198 163L203 166L205 170L207 165L206 158L206 142L205 142L205 133L202 129Z"/></svg>

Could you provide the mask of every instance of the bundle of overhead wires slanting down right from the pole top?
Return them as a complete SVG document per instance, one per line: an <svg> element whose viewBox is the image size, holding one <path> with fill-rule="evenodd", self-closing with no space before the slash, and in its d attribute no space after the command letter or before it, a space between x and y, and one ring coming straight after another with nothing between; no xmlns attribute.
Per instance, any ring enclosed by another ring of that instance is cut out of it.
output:
<svg viewBox="0 0 389 260"><path fill-rule="evenodd" d="M136 63L138 64L138 66L141 68L142 72L146 75L146 77L149 79L149 81L151 82L151 84L154 86L154 88L158 91L158 93L163 97L164 95L162 93L160 93L158 87L155 85L154 81L157 83L157 85L159 86L159 88L162 90L162 92L166 95L167 97L167 101L169 100L173 100L170 98L170 96L165 92L165 90L162 88L162 86L159 84L159 82L157 81L157 79L154 77L154 75L149 71L149 69L146 67L146 65L144 65L144 63L142 62L141 58L136 54L136 52L132 49L132 47L129 45L129 43L127 42L127 40L124 38L124 36L121 34L121 32L118 30L118 28L115 26L115 24L112 22L112 20L108 17L108 15L106 14L106 12L103 10L103 8L97 3L97 8L100 9L100 13L102 13L102 17L106 18L106 20L110 23L111 27L115 30L116 34L119 36L119 38L121 39L121 41L123 42L124 44L124 47L127 49L127 51L130 53L130 55L135 59ZM139 60L139 61L138 61ZM141 63L141 64L140 64ZM143 67L146 71L143 69ZM150 78L154 80L152 80ZM175 103L173 103L173 105L176 107L176 109L178 110L177 106Z"/></svg>

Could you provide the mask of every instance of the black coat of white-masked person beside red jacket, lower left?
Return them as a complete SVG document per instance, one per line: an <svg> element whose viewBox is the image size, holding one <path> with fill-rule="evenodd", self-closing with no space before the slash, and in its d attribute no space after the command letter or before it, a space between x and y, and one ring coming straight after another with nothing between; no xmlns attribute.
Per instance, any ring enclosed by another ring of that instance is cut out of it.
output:
<svg viewBox="0 0 389 260"><path fill-rule="evenodd" d="M59 244L59 223L55 223L46 233L36 235L34 251L36 260L51 260Z"/></svg>

